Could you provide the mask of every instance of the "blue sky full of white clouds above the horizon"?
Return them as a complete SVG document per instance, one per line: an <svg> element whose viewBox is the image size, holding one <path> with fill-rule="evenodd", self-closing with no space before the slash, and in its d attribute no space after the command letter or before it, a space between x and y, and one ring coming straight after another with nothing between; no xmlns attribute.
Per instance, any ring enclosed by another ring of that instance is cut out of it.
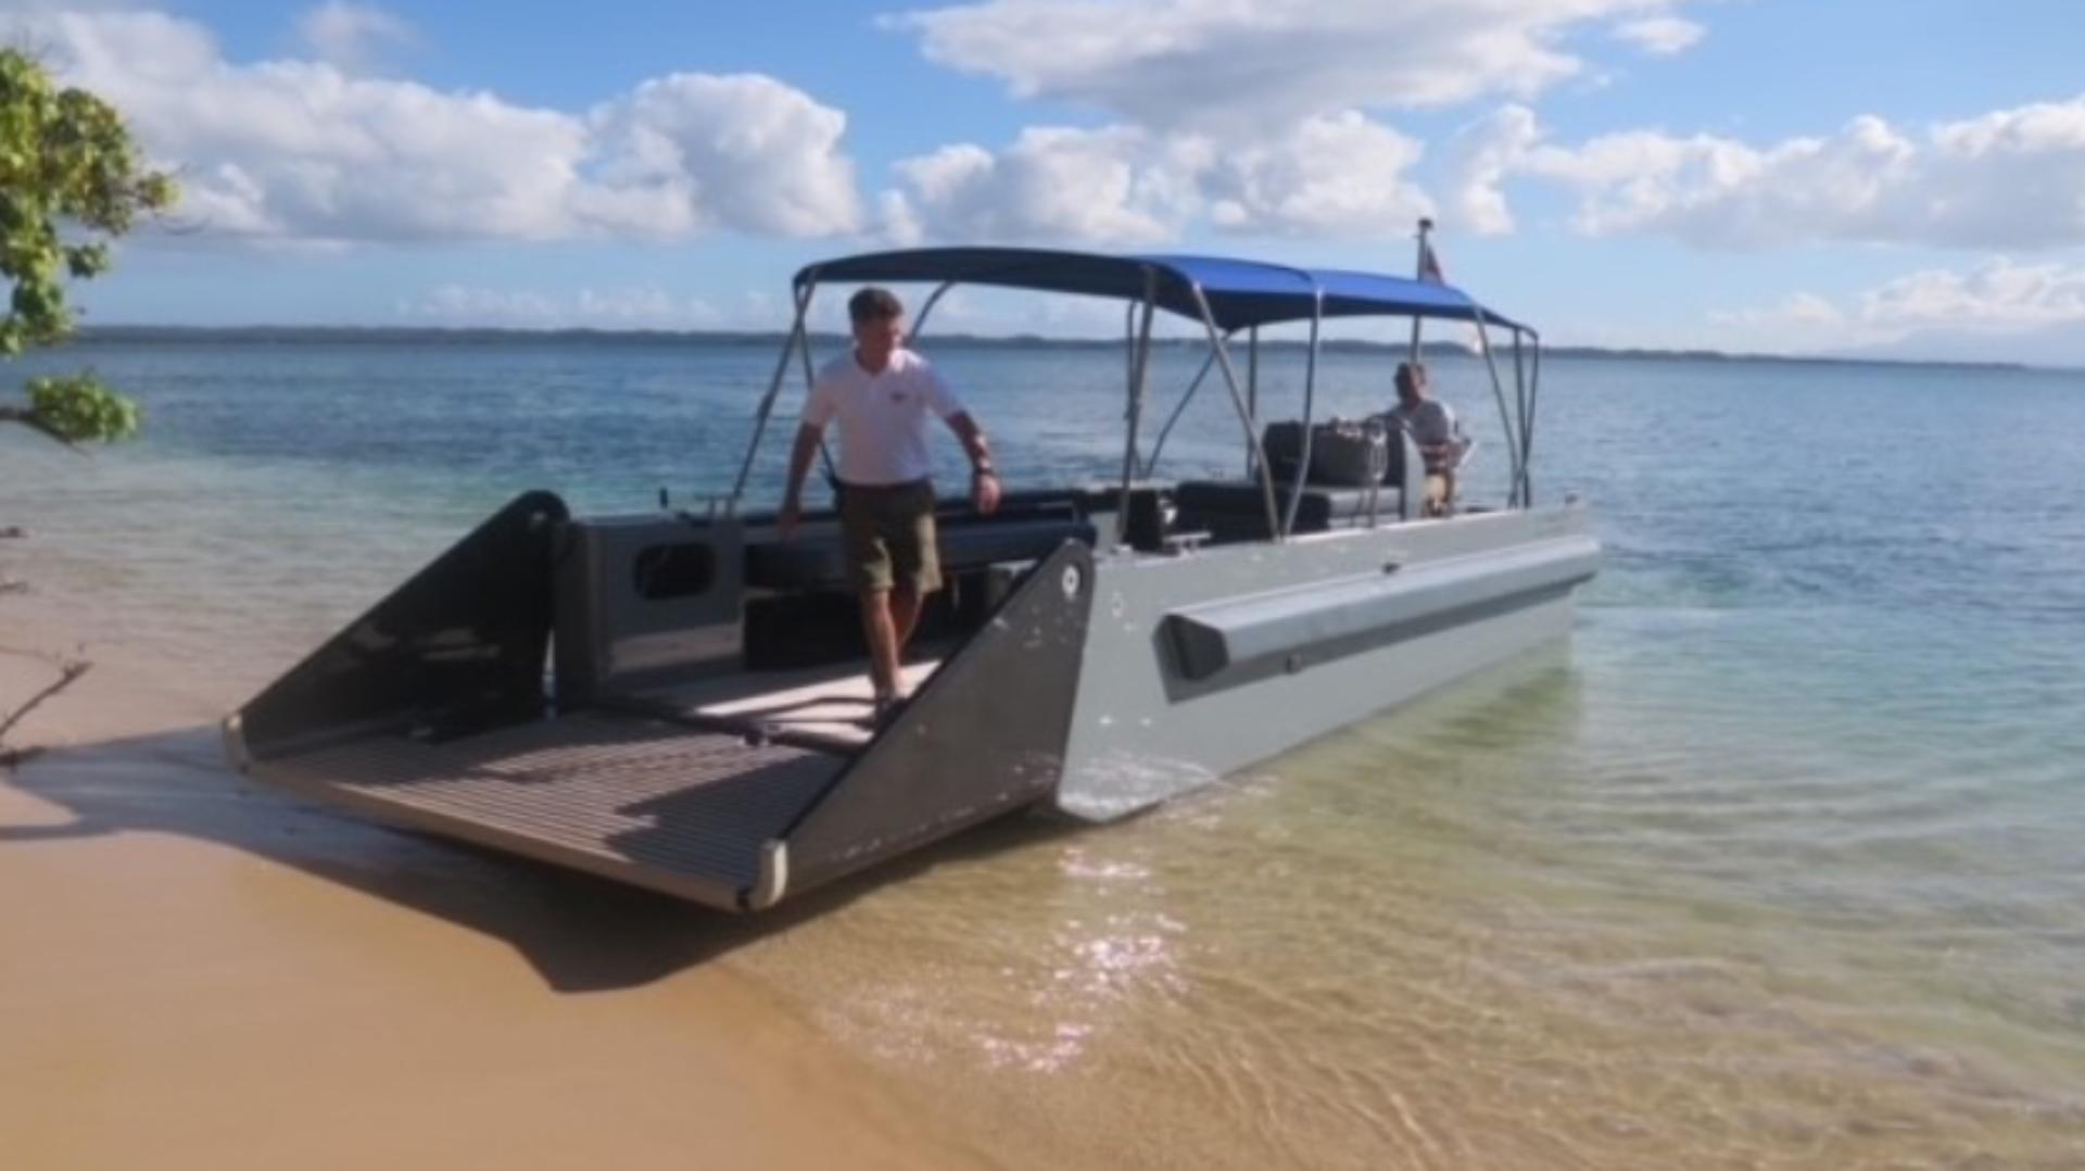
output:
<svg viewBox="0 0 2085 1171"><path fill-rule="evenodd" d="M94 324L780 330L857 250L1409 273L1426 215L1551 342L2085 363L2077 0L0 0L0 35L183 186Z"/></svg>

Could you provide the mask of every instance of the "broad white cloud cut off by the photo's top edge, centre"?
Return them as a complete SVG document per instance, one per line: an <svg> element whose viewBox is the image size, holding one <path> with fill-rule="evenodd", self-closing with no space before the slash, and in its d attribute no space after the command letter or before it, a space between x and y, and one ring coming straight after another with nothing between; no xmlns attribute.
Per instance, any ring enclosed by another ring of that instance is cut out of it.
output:
<svg viewBox="0 0 2085 1171"><path fill-rule="evenodd" d="M932 61L1149 127L1532 96L1583 71L1574 29L1683 0L984 0L892 17ZM1668 29L1670 38L1672 31Z"/></svg>

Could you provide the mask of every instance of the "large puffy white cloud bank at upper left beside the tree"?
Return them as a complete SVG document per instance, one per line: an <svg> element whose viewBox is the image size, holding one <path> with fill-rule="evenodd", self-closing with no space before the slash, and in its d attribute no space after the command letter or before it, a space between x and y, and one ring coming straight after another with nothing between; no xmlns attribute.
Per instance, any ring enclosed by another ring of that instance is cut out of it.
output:
<svg viewBox="0 0 2085 1171"><path fill-rule="evenodd" d="M840 111L759 75L671 75L584 115L350 75L231 63L156 13L17 21L71 83L177 165L179 219L277 242L784 236L861 223Z"/></svg>

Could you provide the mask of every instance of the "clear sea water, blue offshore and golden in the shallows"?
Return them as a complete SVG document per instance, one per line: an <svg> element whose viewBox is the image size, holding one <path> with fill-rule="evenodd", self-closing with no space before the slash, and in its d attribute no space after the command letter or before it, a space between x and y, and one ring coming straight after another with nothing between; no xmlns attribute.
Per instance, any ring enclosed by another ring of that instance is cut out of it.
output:
<svg viewBox="0 0 2085 1171"><path fill-rule="evenodd" d="M928 349L1015 486L1118 474L1118 353ZM774 367L58 357L148 432L0 432L0 524L31 530L0 566L231 697L521 488L728 488ZM1161 357L1155 409L1193 367ZM1264 401L1299 374L1268 355ZM1124 825L988 827L713 962L1013 1167L2085 1167L2085 374L1543 374L1537 493L1608 547L1568 647ZM1387 359L1322 380L1320 413L1378 409ZM1480 367L1437 384L1497 493ZM1161 474L1238 459L1209 384Z"/></svg>

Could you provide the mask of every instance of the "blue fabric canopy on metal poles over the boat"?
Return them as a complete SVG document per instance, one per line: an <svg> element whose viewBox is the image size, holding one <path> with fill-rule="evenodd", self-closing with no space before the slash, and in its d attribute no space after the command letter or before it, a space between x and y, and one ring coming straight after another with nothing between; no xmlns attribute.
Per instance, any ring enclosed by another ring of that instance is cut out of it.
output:
<svg viewBox="0 0 2085 1171"><path fill-rule="evenodd" d="M796 288L834 280L995 284L1122 301L1143 301L1149 290L1159 309L1195 321L1203 319L1197 303L1197 290L1201 290L1209 303L1209 319L1226 334L1314 317L1447 317L1524 334L1535 332L1493 313L1447 284L1345 269L1299 269L1230 257L1109 257L1053 248L907 248L807 265L796 273Z"/></svg>

